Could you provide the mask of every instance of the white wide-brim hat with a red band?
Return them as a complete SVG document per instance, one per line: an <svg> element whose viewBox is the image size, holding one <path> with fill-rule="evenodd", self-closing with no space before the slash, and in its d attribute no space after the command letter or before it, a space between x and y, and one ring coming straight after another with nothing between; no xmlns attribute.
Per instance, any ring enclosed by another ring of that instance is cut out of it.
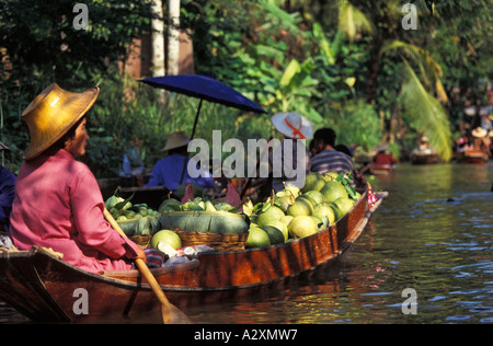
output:
<svg viewBox="0 0 493 346"><path fill-rule="evenodd" d="M298 113L277 113L273 115L271 122L276 130L288 138L310 139L313 137L313 126L310 120Z"/></svg>

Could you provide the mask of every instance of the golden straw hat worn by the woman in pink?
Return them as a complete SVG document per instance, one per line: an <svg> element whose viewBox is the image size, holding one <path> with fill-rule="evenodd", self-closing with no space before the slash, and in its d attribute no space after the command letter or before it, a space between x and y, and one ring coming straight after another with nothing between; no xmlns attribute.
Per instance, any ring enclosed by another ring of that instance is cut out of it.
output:
<svg viewBox="0 0 493 346"><path fill-rule="evenodd" d="M98 86L74 93L57 83L43 90L22 113L31 136L24 160L34 159L67 134L91 108L99 94Z"/></svg>

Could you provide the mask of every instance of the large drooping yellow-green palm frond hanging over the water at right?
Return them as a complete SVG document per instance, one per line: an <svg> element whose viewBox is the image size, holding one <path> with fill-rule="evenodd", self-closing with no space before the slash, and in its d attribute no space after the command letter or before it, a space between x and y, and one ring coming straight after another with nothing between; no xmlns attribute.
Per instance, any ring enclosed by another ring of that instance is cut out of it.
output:
<svg viewBox="0 0 493 346"><path fill-rule="evenodd" d="M401 97L406 113L419 124L444 161L451 158L451 131L448 115L442 104L421 83L411 65L404 59L404 82Z"/></svg>

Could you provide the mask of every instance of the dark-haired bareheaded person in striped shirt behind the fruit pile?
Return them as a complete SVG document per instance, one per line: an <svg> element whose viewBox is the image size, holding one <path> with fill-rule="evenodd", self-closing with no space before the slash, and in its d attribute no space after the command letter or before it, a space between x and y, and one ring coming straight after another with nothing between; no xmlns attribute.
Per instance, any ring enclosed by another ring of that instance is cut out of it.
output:
<svg viewBox="0 0 493 346"><path fill-rule="evenodd" d="M319 128L313 135L313 152L311 172L353 173L354 164L351 155L335 149L335 131L330 127Z"/></svg>

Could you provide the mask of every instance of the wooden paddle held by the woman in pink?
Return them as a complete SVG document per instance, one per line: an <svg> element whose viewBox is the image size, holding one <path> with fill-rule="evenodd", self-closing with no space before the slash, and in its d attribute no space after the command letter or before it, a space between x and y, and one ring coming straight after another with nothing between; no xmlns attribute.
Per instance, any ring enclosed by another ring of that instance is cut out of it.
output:
<svg viewBox="0 0 493 346"><path fill-rule="evenodd" d="M104 217L106 218L106 220L110 222L110 224L113 227L114 230L116 230L123 237L127 238L125 232L122 230L119 224L115 221L115 219L110 214L110 211L107 211L106 208L104 208ZM161 302L161 313L164 324L191 324L192 321L180 309L170 303L163 290L161 289L161 286L159 286L158 281L156 280L154 276L152 275L152 273L150 272L149 267L146 265L144 260L136 258L135 264L139 268L142 276L146 278L146 280L149 282L153 292Z"/></svg>

